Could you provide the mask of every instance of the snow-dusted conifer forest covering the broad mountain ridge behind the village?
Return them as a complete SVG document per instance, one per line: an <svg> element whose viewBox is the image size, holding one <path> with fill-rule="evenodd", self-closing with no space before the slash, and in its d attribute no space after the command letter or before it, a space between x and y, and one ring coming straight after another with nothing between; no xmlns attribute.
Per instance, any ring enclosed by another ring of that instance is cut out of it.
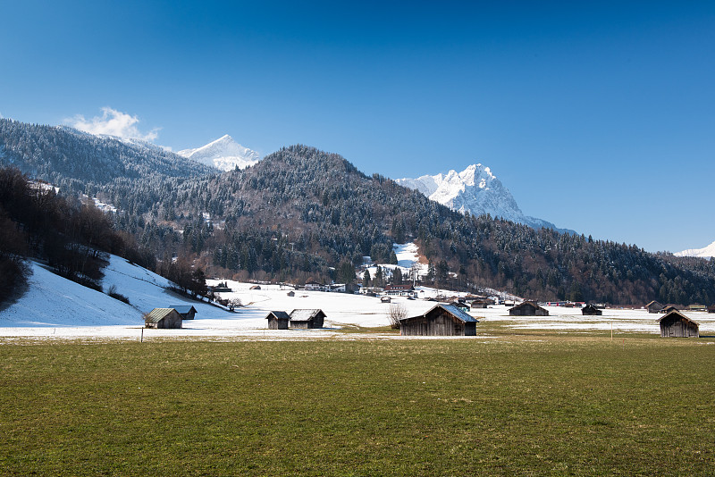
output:
<svg viewBox="0 0 715 477"><path fill-rule="evenodd" d="M106 227L166 276L179 263L240 280L354 280L364 255L390 263L393 243L414 241L431 264L424 279L441 288L623 305L715 301L713 260L465 216L309 146L221 173L156 146L0 120L0 164L52 182L68 203L85 194L114 205ZM0 206L4 224L27 233Z"/></svg>

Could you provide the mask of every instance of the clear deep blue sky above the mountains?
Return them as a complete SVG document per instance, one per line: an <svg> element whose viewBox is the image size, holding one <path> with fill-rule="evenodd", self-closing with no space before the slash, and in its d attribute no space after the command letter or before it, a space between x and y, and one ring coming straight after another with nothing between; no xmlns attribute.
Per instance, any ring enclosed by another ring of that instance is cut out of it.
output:
<svg viewBox="0 0 715 477"><path fill-rule="evenodd" d="M715 2L4 2L0 114L121 112L173 150L301 143L393 178L484 163L522 210L715 240Z"/></svg>

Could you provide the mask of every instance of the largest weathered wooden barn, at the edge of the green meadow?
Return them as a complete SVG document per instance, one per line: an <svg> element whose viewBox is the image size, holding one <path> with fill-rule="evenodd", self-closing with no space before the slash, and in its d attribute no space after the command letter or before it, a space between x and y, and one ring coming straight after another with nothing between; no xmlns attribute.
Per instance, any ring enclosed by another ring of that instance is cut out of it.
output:
<svg viewBox="0 0 715 477"><path fill-rule="evenodd" d="M475 336L475 317L453 305L434 305L425 314L400 320L402 336Z"/></svg>

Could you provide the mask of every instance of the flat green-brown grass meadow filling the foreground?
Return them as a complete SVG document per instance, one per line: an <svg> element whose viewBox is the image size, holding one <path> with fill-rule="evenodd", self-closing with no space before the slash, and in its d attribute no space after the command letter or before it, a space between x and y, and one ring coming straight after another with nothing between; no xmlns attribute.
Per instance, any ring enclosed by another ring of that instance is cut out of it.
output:
<svg viewBox="0 0 715 477"><path fill-rule="evenodd" d="M705 475L707 339L0 344L3 475Z"/></svg>

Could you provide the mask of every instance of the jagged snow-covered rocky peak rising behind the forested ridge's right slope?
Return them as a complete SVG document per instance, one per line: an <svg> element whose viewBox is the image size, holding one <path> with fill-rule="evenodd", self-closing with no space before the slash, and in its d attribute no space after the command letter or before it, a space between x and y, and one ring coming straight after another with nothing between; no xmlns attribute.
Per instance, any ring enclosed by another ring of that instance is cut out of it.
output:
<svg viewBox="0 0 715 477"><path fill-rule="evenodd" d="M482 164L472 164L462 172L450 171L446 174L395 181L407 188L419 190L433 201L461 213L489 213L492 217L524 223L534 229L557 229L551 222L529 217L521 212L509 189Z"/></svg>

